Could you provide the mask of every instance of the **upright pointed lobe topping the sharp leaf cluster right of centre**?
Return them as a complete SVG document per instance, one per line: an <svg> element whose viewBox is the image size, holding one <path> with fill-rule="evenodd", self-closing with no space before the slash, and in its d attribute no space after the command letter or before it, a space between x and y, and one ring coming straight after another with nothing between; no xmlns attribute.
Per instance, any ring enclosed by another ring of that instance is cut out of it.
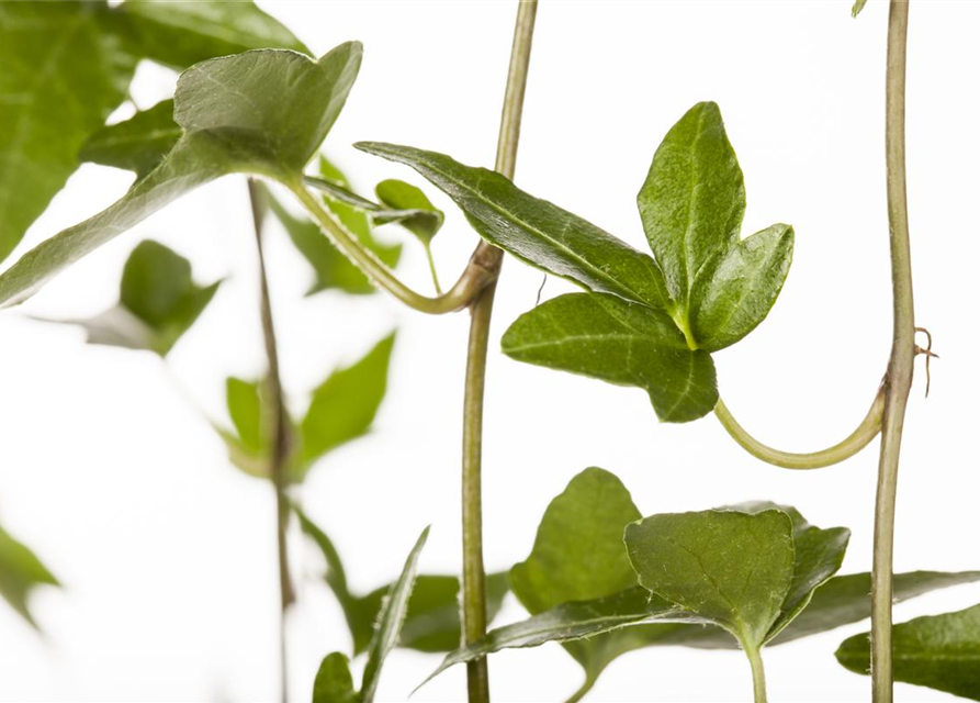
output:
<svg viewBox="0 0 980 703"><path fill-rule="evenodd" d="M739 241L745 213L742 169L717 104L699 102L671 129L637 202L667 290L684 314L697 280L711 274L707 265Z"/></svg>

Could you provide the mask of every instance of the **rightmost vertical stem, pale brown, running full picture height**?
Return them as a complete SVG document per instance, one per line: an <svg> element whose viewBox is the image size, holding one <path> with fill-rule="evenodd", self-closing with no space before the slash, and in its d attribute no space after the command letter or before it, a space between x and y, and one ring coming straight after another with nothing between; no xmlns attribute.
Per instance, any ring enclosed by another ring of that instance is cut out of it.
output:
<svg viewBox="0 0 980 703"><path fill-rule="evenodd" d="M892 551L899 453L915 359L912 253L905 200L905 37L908 0L892 0L888 14L886 74L886 165L891 243L893 320L891 359L885 377L885 421L875 505L875 558L871 569L871 691L875 703L892 700Z"/></svg>

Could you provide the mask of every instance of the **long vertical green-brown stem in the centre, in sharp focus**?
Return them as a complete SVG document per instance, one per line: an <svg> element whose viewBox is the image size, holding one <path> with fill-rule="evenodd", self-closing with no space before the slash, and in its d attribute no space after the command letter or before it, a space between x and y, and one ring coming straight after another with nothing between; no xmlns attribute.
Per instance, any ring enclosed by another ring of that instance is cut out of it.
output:
<svg viewBox="0 0 980 703"><path fill-rule="evenodd" d="M520 118L523 110L531 40L534 33L537 0L523 0L517 9L514 44L500 133L497 140L495 169L514 178L517 144L520 138ZM483 507L481 496L483 392L486 383L486 349L489 339L491 315L494 309L496 276L503 263L503 252L481 242L473 254L489 263L494 282L486 286L470 303L470 343L466 354L466 386L463 397L463 579L462 615L463 644L469 645L486 635L486 573L483 568ZM486 659L466 665L470 703L488 703L489 681Z"/></svg>

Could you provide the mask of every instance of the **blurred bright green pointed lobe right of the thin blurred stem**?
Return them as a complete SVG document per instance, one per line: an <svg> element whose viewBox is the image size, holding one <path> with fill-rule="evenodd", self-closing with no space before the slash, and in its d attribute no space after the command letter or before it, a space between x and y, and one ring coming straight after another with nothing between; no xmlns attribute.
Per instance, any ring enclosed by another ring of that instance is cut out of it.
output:
<svg viewBox="0 0 980 703"><path fill-rule="evenodd" d="M394 344L392 333L352 366L335 370L313 391L300 424L298 480L325 454L367 434L384 399Z"/></svg>

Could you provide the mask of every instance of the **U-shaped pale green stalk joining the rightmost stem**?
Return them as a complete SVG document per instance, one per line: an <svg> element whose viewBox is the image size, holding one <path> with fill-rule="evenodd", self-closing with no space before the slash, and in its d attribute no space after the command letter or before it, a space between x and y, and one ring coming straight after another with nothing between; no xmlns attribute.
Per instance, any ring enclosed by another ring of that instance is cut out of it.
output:
<svg viewBox="0 0 980 703"><path fill-rule="evenodd" d="M721 426L724 427L732 439L739 443L739 445L748 454L767 464L782 467L784 469L802 470L822 469L827 466L833 466L834 464L840 464L864 449L881 431L881 416L883 413L885 389L882 387L878 390L878 394L875 395L875 402L871 403L865 419L861 420L857 428L847 437L834 446L821 449L820 451L797 454L774 449L753 437L739 424L728 409L728 405L725 405L721 399L719 399L718 405L714 406L714 415L721 422Z"/></svg>

